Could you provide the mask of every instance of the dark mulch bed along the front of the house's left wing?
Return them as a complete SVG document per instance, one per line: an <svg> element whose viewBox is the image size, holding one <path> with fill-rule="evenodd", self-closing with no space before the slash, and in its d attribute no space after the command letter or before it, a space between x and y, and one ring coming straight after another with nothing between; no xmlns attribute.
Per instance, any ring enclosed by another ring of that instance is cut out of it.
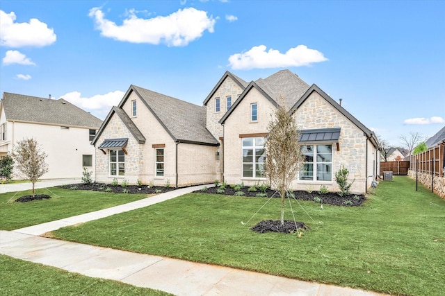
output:
<svg viewBox="0 0 445 296"><path fill-rule="evenodd" d="M142 194L154 194L163 193L175 190L175 187L165 187L165 186L148 186L148 185L117 185L106 183L91 183L91 184L68 184L60 186L64 189L71 190L92 190L92 191L103 191L103 192L113 192L113 193L142 193Z"/></svg>

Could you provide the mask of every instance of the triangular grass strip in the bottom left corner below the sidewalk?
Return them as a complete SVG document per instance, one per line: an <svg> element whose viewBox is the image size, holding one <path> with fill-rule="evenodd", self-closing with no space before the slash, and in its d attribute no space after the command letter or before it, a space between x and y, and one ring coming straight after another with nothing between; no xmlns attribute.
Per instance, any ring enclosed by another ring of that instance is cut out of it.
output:
<svg viewBox="0 0 445 296"><path fill-rule="evenodd" d="M170 295L0 255L0 295Z"/></svg>

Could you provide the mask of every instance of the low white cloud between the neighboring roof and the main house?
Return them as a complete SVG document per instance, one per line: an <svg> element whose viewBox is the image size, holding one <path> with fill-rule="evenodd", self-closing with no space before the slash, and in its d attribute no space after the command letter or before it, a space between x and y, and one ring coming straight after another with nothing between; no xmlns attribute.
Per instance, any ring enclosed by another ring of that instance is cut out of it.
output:
<svg viewBox="0 0 445 296"><path fill-rule="evenodd" d="M108 92L108 94L97 94L90 98L81 96L80 92L69 92L60 96L77 107L95 114L99 118L104 118L111 107L117 106L124 96L124 92L119 90Z"/></svg>

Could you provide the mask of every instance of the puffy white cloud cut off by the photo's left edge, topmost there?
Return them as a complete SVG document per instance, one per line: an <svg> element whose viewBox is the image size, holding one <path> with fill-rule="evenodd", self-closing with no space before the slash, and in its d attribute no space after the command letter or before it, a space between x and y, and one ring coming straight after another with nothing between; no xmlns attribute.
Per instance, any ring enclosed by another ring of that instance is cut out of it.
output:
<svg viewBox="0 0 445 296"><path fill-rule="evenodd" d="M0 10L0 45L9 47L47 46L56 42L54 29L38 19L15 23L15 13Z"/></svg>

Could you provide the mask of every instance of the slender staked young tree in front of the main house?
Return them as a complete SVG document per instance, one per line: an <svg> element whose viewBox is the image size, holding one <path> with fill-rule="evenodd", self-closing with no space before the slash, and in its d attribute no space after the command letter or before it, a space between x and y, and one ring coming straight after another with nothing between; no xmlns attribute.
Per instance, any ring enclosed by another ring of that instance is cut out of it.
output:
<svg viewBox="0 0 445 296"><path fill-rule="evenodd" d="M270 185L280 193L281 225L284 225L286 192L305 162L305 157L298 145L300 130L296 121L284 107L282 96L280 96L280 101L283 103L275 111L275 119L268 123L265 171Z"/></svg>

